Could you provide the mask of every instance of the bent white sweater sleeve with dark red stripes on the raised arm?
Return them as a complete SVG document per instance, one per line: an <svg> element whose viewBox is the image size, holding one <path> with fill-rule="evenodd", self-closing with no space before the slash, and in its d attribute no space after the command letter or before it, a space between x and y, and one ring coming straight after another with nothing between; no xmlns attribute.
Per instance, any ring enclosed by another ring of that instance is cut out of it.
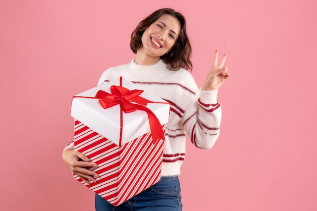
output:
<svg viewBox="0 0 317 211"><path fill-rule="evenodd" d="M210 149L219 137L221 107L218 90L199 90L183 116L183 128L191 142L199 148Z"/></svg>

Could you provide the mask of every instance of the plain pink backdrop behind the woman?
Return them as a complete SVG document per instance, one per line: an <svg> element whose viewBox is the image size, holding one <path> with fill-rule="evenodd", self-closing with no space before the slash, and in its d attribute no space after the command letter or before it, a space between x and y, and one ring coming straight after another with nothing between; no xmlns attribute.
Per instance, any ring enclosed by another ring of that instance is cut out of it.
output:
<svg viewBox="0 0 317 211"><path fill-rule="evenodd" d="M231 73L215 146L188 141L183 210L317 210L312 0L2 0L0 210L94 209L93 192L61 160L71 96L130 62L132 30L163 7L187 18L199 86L216 48Z"/></svg>

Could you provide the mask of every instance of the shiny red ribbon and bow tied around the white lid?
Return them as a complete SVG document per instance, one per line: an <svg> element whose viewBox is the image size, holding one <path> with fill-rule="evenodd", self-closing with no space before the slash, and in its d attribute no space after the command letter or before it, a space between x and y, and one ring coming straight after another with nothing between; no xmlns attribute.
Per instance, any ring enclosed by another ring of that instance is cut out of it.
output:
<svg viewBox="0 0 317 211"><path fill-rule="evenodd" d="M123 86L110 86L111 93L108 93L103 90L99 90L95 97L85 97L85 98L98 98L99 102L104 109L108 109L110 107L113 107L114 105L120 104L121 108L121 129L120 129L120 141L119 146L121 146L121 139L122 139L122 128L123 128L123 118L122 118L122 111L125 113L134 112L136 110L145 111L148 120L150 123L150 130L151 135L153 138L153 141L156 141L157 139L163 139L164 137L164 131L162 129L162 126L160 124L159 119L154 115L154 113L146 108L144 105L147 105L150 101L148 99L145 99L141 96L139 96L143 90L129 90ZM74 96L74 97L81 97L81 96ZM136 102L136 103L132 103Z"/></svg>

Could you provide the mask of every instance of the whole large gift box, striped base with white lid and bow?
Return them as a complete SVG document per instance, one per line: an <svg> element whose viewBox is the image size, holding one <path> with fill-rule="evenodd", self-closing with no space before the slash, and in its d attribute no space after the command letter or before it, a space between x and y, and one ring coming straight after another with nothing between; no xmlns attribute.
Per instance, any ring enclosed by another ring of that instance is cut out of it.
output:
<svg viewBox="0 0 317 211"><path fill-rule="evenodd" d="M117 93L120 87L124 91ZM107 93L103 93L107 100L109 95L115 95L110 97L111 100L115 98L115 102L105 100L106 105L101 105L105 102L96 94L100 90ZM128 106L125 105L127 101ZM74 150L86 154L98 165L90 170L100 177L97 183L90 185L77 175L73 177L115 206L159 182L169 109L169 103L140 91L123 78L75 95L71 109L75 119ZM129 111L125 113L126 110ZM153 116L157 117L156 123L153 123Z"/></svg>

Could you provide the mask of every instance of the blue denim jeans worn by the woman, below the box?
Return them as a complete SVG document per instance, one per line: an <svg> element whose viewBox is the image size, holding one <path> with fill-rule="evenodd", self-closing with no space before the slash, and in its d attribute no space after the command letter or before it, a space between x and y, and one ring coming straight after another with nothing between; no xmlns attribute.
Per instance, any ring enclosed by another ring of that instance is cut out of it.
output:
<svg viewBox="0 0 317 211"><path fill-rule="evenodd" d="M98 194L95 196L96 211L181 211L182 206L177 176L162 177L160 182L118 206L113 206Z"/></svg>

